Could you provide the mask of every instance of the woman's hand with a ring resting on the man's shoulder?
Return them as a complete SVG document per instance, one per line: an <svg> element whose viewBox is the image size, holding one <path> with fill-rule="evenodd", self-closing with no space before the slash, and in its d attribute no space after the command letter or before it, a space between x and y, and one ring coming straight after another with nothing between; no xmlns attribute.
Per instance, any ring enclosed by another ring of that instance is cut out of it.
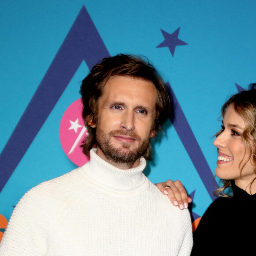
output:
<svg viewBox="0 0 256 256"><path fill-rule="evenodd" d="M166 182L156 183L155 185L164 195L169 197L169 200L171 200L174 206L178 206L181 210L188 208L188 203L192 202L181 181L168 180Z"/></svg>

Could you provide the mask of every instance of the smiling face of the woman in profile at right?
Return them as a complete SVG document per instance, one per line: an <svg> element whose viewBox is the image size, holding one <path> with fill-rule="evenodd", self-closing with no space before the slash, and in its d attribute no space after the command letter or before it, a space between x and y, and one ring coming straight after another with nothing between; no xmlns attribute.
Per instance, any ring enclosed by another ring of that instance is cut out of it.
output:
<svg viewBox="0 0 256 256"><path fill-rule="evenodd" d="M246 163L240 174L241 167L249 155L248 149L245 153L245 146L241 139L245 121L237 115L231 104L226 109L222 123L222 131L213 142L215 147L218 148L215 174L223 180L235 180L235 184L239 188L247 191L248 184L256 177L256 174L254 173L252 159ZM239 167L240 162L241 165Z"/></svg>

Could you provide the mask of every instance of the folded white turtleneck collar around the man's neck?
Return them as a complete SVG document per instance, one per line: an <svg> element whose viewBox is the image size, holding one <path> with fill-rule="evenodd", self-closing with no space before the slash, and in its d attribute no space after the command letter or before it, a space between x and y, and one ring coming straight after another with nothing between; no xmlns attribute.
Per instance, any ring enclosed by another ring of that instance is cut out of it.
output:
<svg viewBox="0 0 256 256"><path fill-rule="evenodd" d="M96 148L90 150L90 161L81 168L94 182L115 190L130 190L141 186L146 177L143 170L146 167L145 158L140 158L139 166L131 169L119 169L100 158Z"/></svg>

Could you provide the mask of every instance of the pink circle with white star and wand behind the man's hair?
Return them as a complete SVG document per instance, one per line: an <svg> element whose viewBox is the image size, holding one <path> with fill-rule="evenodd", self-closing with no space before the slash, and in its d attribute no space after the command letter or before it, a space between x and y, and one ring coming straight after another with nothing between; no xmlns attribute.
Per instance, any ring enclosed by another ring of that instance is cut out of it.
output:
<svg viewBox="0 0 256 256"><path fill-rule="evenodd" d="M60 144L68 158L77 166L83 166L90 158L80 147L87 136L82 117L83 103L79 98L64 112L60 120Z"/></svg>

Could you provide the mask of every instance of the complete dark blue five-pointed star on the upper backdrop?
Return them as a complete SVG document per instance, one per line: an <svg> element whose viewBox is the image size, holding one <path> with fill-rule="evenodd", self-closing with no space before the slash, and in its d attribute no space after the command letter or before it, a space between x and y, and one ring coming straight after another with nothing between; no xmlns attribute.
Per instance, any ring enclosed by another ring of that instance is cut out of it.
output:
<svg viewBox="0 0 256 256"><path fill-rule="evenodd" d="M171 52L171 54L172 54L172 56L173 56L174 55L174 51L175 51L175 47L177 45L187 45L187 43L185 43L184 41L181 41L178 38L180 28L181 27L179 27L177 30L175 30L173 32L173 34L169 34L166 31L161 29L162 35L164 36L165 40L160 45L158 45L157 48L168 47L170 52Z"/></svg>

